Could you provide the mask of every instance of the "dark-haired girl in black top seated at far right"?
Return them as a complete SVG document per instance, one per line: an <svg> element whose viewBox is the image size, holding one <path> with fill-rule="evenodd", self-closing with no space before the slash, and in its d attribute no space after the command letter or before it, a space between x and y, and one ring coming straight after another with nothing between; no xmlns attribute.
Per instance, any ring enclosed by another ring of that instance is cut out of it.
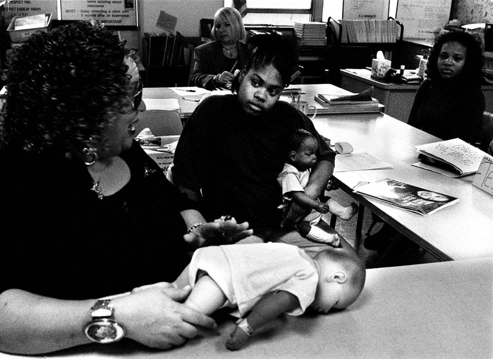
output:
<svg viewBox="0 0 493 359"><path fill-rule="evenodd" d="M478 142L485 108L482 71L482 48L475 36L463 31L440 35L408 124L441 139Z"/></svg>

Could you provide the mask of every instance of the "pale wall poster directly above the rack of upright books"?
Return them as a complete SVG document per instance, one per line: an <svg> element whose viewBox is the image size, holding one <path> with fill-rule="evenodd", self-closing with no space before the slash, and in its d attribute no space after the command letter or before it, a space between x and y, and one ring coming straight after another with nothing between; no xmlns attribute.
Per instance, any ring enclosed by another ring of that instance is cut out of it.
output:
<svg viewBox="0 0 493 359"><path fill-rule="evenodd" d="M382 20L389 16L389 0L344 0L343 19Z"/></svg>

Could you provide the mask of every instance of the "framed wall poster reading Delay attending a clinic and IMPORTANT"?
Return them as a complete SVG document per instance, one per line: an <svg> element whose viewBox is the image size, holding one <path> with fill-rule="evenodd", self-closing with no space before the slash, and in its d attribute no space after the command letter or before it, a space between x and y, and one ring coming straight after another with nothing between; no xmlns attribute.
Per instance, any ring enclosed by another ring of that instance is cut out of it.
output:
<svg viewBox="0 0 493 359"><path fill-rule="evenodd" d="M62 20L95 19L106 26L137 27L137 0L60 0Z"/></svg>

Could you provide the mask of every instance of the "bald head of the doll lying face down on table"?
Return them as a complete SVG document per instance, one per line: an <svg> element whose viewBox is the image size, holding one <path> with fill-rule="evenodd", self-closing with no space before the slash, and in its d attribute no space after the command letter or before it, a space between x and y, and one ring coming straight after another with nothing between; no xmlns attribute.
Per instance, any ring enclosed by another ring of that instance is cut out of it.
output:
<svg viewBox="0 0 493 359"><path fill-rule="evenodd" d="M366 270L356 252L330 248L313 260L318 271L315 300L310 305L320 313L331 308L344 309L354 303L365 285Z"/></svg>

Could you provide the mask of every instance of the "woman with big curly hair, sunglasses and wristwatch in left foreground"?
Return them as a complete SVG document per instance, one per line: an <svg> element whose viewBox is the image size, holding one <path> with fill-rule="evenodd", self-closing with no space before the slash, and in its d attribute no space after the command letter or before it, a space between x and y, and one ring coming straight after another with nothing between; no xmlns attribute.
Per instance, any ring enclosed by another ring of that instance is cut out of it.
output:
<svg viewBox="0 0 493 359"><path fill-rule="evenodd" d="M252 232L234 218L205 223L132 140L145 106L118 36L86 22L34 34L14 49L7 88L0 351L122 336L168 348L214 326L180 303L189 288L162 281L175 280L193 246Z"/></svg>

